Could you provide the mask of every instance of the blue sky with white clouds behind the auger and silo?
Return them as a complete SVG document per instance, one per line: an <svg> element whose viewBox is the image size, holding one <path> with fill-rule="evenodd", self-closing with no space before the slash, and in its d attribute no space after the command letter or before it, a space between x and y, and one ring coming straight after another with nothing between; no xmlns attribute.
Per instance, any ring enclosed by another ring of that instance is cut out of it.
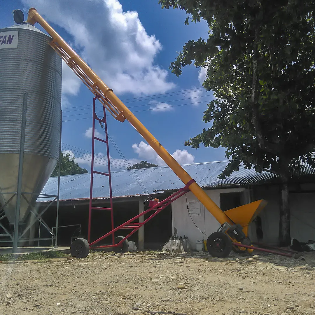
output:
<svg viewBox="0 0 315 315"><path fill-rule="evenodd" d="M202 116L213 96L202 89L204 73L189 66L177 78L168 69L185 42L207 37L204 22L185 26L184 11L162 10L157 0L13 0L1 4L0 28L14 24L14 9L24 11L26 19L30 7L35 7L117 96L125 100L179 163L225 159L222 148L196 150L184 146L185 140L207 127ZM41 29L38 24L36 27ZM70 152L88 170L92 99L92 93L64 66L62 150ZM120 123L110 115L107 117L108 133L128 163L147 160L164 165L127 121ZM101 129L96 132L104 135ZM112 141L113 170L125 169ZM97 144L96 153L99 154L96 166L104 168L105 145Z"/></svg>

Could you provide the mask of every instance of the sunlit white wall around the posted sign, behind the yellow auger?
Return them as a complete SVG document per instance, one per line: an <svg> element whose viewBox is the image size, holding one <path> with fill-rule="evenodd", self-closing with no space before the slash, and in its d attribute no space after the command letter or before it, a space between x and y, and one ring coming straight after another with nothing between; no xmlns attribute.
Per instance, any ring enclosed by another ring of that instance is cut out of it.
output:
<svg viewBox="0 0 315 315"><path fill-rule="evenodd" d="M231 188L231 189L214 189L205 190L207 195L220 207L220 193L221 192L245 192L245 198L247 196L247 189L245 188ZM187 199L186 199L187 198ZM198 199L192 194L187 192L184 196L178 198L172 203L172 222L173 222L173 234L174 228L177 230L177 235L184 237L187 235L190 246L193 250L196 249L197 240L206 240L207 236L217 231L220 224L213 215L201 204L200 216L189 216L187 210L187 203L189 201L198 201ZM247 201L246 201L247 202ZM193 220L193 221L192 221ZM200 232L197 227L202 231Z"/></svg>

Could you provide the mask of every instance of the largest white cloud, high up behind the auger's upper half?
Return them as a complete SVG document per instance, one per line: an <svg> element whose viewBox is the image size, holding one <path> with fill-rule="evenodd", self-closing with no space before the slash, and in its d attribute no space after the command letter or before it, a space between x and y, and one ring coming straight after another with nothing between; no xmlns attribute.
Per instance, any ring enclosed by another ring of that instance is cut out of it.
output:
<svg viewBox="0 0 315 315"><path fill-rule="evenodd" d="M118 0L22 2L72 35L77 52L116 93L148 95L175 87L154 61L161 43L147 34L136 11L123 12ZM76 95L79 81L66 69L63 74L65 97Z"/></svg>

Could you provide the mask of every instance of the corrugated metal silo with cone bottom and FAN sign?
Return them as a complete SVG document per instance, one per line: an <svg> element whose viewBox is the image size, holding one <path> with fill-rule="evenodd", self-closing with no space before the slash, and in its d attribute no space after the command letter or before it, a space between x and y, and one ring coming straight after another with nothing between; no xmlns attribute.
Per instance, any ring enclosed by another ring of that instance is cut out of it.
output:
<svg viewBox="0 0 315 315"><path fill-rule="evenodd" d="M25 199L35 203L59 160L62 59L51 40L27 23L0 29L0 208L5 205L9 225L15 217L26 94L19 225L30 210Z"/></svg>

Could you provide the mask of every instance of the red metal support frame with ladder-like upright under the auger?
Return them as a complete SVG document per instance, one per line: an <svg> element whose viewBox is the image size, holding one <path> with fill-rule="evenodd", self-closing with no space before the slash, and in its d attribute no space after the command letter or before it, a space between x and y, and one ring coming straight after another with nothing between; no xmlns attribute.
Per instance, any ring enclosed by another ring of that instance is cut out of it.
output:
<svg viewBox="0 0 315 315"><path fill-rule="evenodd" d="M92 124L92 159L91 159L91 182L90 182L90 202L89 202L89 223L88 223L88 242L90 249L98 249L98 248L108 248L108 247L118 247L120 246L124 240L129 238L132 234L137 232L141 226L146 224L146 222L150 221L152 218L154 218L159 212L161 212L163 209L165 209L167 206L169 206L173 201L180 198L181 196L185 195L187 192L189 192L189 186L194 182L194 180L189 181L184 188L180 188L177 192L174 192L169 197L165 198L162 201L156 202L151 200L149 204L149 209L143 211L139 215L136 215L132 219L126 221L125 223L121 224L120 226L117 226L114 228L114 213L113 213L113 197L112 197L112 178L111 178L111 167L110 167L110 159L109 159L109 145L108 145L108 134L107 134L107 123L106 123L106 111L105 107L103 107L103 113L104 117L100 119L97 117L95 113L95 100L99 98L99 95L96 95L93 98L93 124ZM106 133L106 140L100 139L95 137L95 120L97 120L100 125L104 123L105 133ZM94 146L95 146L95 140L101 141L106 144L107 149L107 164L108 164L108 173L102 173L94 170ZM93 207L92 201L93 201L93 175L94 174L100 174L107 176L109 179L109 194L110 194L110 208L103 208L103 207ZM108 210L111 212L111 220L112 220L112 230L102 237L98 238L97 240L91 242L91 218L92 218L92 210ZM145 221L143 222L135 222L140 218L140 216L145 215L151 211L154 211ZM115 232L117 232L120 229L131 229L132 231L125 236L122 240L119 241L119 243L115 244ZM112 235L112 245L102 245L102 246L95 246L97 243L99 243L104 238Z"/></svg>

